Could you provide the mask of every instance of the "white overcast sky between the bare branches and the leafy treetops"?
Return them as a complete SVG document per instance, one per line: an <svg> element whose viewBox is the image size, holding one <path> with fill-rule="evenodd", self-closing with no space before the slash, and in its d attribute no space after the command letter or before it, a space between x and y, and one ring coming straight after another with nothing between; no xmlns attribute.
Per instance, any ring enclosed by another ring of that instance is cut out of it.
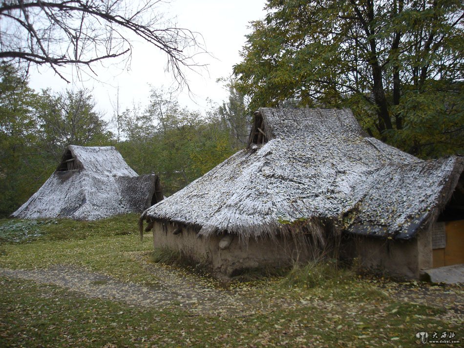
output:
<svg viewBox="0 0 464 348"><path fill-rule="evenodd" d="M208 104L207 98L221 103L227 99L228 93L216 79L228 77L232 73L232 65L240 61L239 51L244 45L245 35L250 32L249 22L262 19L265 0L172 0L162 7L166 18L177 17L179 27L188 28L203 35L208 55L199 56L196 61L209 64L208 71L197 73L184 69L189 81L190 90L195 94L190 98L184 89L179 97L181 105L191 110L204 111ZM169 73L165 73L166 57L148 43L135 42L132 61L129 70L123 70L122 65L112 61L104 61L97 67L98 80L76 81L71 84L61 80L53 71L41 67L32 70L30 86L37 91L51 88L62 91L65 88L89 88L93 91L97 109L109 120L113 113L111 102L115 102L119 86L119 101L121 109L132 105L148 104L149 84L154 87L164 86L166 89L174 82ZM69 77L69 75L66 75Z"/></svg>

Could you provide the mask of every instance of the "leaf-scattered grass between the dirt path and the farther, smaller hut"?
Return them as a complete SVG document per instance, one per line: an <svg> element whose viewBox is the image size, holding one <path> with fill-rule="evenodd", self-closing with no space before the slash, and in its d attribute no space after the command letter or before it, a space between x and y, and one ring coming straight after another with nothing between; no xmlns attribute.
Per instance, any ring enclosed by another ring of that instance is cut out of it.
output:
<svg viewBox="0 0 464 348"><path fill-rule="evenodd" d="M3 220L0 229L4 226L17 228L17 225L33 226L37 229L36 236L20 243L13 238L9 242L3 241L0 267L33 269L72 265L123 281L141 284L156 284L158 281L138 261L148 259L153 245L150 238L139 241L135 214L95 222L48 220L38 225L24 220Z"/></svg>

